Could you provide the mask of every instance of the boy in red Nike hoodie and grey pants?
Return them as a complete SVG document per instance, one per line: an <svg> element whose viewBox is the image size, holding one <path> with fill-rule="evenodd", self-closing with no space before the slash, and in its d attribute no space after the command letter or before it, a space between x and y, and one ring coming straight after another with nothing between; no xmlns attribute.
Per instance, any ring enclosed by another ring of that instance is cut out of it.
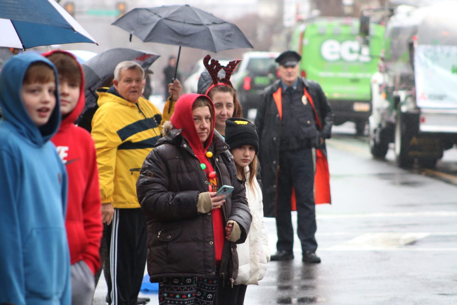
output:
<svg viewBox="0 0 457 305"><path fill-rule="evenodd" d="M84 109L83 71L68 52L43 54L59 76L62 123L51 139L68 172L68 208L65 219L71 259L72 305L90 305L94 274L100 269L101 199L94 142L74 125Z"/></svg>

